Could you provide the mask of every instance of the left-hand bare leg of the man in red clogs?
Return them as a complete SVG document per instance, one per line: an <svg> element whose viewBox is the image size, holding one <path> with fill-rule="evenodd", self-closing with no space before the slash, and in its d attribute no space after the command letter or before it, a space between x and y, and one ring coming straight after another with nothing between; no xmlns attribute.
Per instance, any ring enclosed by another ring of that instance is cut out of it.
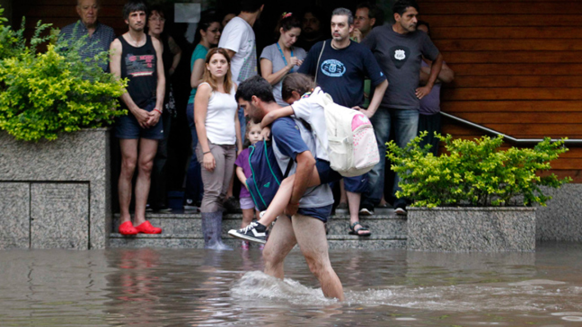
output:
<svg viewBox="0 0 582 327"><path fill-rule="evenodd" d="M132 178L136 170L137 145L139 140L120 139L121 171L118 180L120 223L131 221L129 204L132 201Z"/></svg>

